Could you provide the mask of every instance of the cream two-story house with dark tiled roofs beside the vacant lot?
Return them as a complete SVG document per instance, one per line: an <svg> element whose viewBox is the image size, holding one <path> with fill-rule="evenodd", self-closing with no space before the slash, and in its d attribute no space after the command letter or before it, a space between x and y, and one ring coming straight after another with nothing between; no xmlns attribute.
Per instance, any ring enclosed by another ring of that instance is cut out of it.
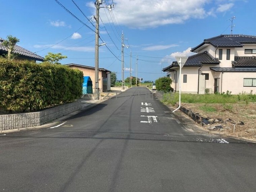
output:
<svg viewBox="0 0 256 192"><path fill-rule="evenodd" d="M179 77L177 61L163 69L182 93L256 93L256 36L220 35L191 49Z"/></svg>

